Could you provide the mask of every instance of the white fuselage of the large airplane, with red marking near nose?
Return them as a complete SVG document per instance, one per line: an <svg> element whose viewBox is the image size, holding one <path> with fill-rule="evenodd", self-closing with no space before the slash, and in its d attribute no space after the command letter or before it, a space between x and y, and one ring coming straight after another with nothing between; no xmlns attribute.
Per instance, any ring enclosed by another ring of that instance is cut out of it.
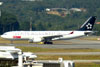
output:
<svg viewBox="0 0 100 67"><path fill-rule="evenodd" d="M62 35L61 37L54 37L52 40L66 40L76 37L84 36L86 31L11 31L6 32L1 37L10 39L10 40L30 40L34 39L36 42L40 42L44 37L51 37ZM40 40L41 39L41 40Z"/></svg>

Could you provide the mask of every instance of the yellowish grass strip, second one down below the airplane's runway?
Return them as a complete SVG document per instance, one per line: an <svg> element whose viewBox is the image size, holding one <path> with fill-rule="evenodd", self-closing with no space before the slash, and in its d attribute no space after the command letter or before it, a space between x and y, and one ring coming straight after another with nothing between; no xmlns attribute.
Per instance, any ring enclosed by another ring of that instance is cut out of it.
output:
<svg viewBox="0 0 100 67"><path fill-rule="evenodd" d="M63 58L64 60L99 60L99 55L38 55L37 60L57 60Z"/></svg>

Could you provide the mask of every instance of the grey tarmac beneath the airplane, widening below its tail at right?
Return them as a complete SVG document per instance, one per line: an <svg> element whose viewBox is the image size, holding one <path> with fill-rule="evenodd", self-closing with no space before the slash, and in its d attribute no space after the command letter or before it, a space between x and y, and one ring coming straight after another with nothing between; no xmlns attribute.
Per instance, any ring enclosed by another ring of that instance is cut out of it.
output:
<svg viewBox="0 0 100 67"><path fill-rule="evenodd" d="M100 49L100 41L72 39L64 40L66 44L13 44L14 46L30 46L41 48L61 48L61 49ZM11 44L12 45L12 44Z"/></svg>

